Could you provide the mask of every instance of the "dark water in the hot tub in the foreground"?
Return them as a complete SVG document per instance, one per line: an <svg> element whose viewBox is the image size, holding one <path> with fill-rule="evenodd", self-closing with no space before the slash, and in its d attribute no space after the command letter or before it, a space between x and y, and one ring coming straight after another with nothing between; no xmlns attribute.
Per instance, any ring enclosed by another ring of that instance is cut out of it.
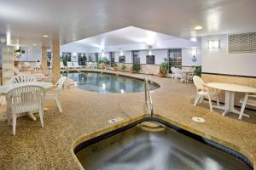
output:
<svg viewBox="0 0 256 170"><path fill-rule="evenodd" d="M171 128L132 127L76 154L86 170L246 170L247 165Z"/></svg>

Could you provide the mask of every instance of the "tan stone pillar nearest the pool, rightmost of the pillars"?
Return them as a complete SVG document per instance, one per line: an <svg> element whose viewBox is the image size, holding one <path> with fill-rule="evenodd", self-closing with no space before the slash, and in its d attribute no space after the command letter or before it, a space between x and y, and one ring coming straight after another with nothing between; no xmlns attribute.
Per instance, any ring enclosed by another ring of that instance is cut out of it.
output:
<svg viewBox="0 0 256 170"><path fill-rule="evenodd" d="M60 67L60 41L55 39L52 41L52 74L53 83L58 82L61 77L61 67Z"/></svg>

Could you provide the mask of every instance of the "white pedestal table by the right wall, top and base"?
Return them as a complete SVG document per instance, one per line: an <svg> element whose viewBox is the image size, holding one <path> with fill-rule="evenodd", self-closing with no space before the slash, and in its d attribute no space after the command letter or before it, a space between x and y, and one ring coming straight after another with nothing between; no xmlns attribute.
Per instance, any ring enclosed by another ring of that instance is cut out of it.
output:
<svg viewBox="0 0 256 170"><path fill-rule="evenodd" d="M250 93L256 93L256 88L251 88L247 86L242 86L238 84L232 84L232 83L223 83L223 82L209 82L207 83L207 86L210 88L215 88L219 90L225 91L225 105L224 106L214 106L215 108L218 108L220 110L224 110L223 116L228 112L233 112L236 114L239 114L241 116L247 116L248 115L241 113L241 111L237 111L234 107L235 105L235 93L244 93L244 94L250 94Z"/></svg>

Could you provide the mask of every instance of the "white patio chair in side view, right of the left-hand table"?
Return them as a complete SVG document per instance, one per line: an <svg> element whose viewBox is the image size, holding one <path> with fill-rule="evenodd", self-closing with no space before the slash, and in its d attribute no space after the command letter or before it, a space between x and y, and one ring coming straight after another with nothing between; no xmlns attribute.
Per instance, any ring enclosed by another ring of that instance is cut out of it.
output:
<svg viewBox="0 0 256 170"><path fill-rule="evenodd" d="M62 113L62 105L61 105L61 91L64 86L64 82L67 77L61 77L58 82L55 83L55 88L49 90L46 94L45 99L55 99L55 103L57 104L59 111Z"/></svg>

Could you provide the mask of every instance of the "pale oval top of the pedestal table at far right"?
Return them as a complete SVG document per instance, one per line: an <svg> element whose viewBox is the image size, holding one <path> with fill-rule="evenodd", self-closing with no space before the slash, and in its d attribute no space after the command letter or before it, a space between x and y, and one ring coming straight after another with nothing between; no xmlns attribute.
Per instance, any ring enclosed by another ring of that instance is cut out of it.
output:
<svg viewBox="0 0 256 170"><path fill-rule="evenodd" d="M230 92L241 92L241 93L256 93L256 88L243 86L239 84L224 83L224 82L209 82L207 86L210 88L218 88Z"/></svg>

